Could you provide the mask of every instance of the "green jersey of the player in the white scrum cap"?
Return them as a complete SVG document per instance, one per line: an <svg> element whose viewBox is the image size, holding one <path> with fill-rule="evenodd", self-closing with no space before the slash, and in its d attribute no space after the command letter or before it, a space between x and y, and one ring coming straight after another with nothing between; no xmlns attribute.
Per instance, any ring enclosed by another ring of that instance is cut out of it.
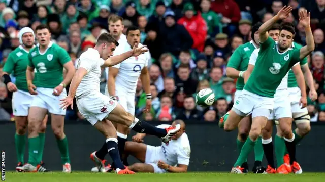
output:
<svg viewBox="0 0 325 182"><path fill-rule="evenodd" d="M11 74L13 72L16 77L16 86L19 90L27 91L27 79L26 69L28 65L28 51L26 51L22 45L19 45L14 51L12 51L3 68L4 72ZM35 82L35 81L34 81Z"/></svg>

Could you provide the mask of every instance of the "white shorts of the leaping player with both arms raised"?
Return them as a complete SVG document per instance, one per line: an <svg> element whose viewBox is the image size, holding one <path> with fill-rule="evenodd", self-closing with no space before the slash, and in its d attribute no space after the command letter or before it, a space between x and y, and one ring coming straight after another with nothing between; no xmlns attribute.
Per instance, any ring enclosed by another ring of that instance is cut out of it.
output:
<svg viewBox="0 0 325 182"><path fill-rule="evenodd" d="M248 92L247 90L243 89L241 95L235 101L233 107L239 110L240 112L246 114L246 116L252 113L252 118L257 116L265 116L265 115L260 115L260 113L258 113L257 110L267 109L271 113L274 108L274 98L259 96L257 94Z"/></svg>

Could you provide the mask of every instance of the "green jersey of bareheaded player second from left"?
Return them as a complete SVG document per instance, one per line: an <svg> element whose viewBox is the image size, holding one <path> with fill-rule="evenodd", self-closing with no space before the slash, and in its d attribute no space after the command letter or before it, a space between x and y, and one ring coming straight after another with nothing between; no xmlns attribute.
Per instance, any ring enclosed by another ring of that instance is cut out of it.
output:
<svg viewBox="0 0 325 182"><path fill-rule="evenodd" d="M36 87L55 88L63 81L63 65L71 59L66 50L50 42L47 50L40 53L39 46L28 54L28 66L36 68Z"/></svg>

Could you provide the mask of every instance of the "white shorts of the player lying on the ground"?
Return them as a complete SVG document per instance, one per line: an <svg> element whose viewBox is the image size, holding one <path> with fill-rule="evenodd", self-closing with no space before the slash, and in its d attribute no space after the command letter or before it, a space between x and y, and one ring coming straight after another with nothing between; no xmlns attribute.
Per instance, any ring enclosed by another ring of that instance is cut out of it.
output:
<svg viewBox="0 0 325 182"><path fill-rule="evenodd" d="M147 145L145 163L152 165L152 167L154 168L154 173L168 172L167 170L160 169L158 167L158 161L160 160L160 157L159 157L160 150L161 150L161 146L155 147L155 146Z"/></svg>

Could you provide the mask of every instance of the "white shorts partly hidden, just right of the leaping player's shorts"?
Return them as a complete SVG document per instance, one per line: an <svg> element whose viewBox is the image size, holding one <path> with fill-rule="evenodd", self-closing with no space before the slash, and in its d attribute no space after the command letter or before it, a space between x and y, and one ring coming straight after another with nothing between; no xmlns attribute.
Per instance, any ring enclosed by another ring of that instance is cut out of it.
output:
<svg viewBox="0 0 325 182"><path fill-rule="evenodd" d="M269 120L280 118L292 118L289 92L286 89L276 90L274 109L269 116Z"/></svg>

